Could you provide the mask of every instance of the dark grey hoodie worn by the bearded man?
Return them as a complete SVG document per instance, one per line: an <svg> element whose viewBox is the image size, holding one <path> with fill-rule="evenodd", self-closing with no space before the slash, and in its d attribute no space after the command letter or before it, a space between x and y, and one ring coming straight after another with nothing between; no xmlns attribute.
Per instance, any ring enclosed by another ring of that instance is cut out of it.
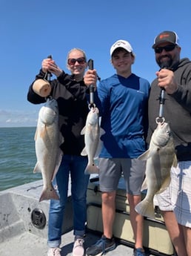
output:
<svg viewBox="0 0 191 256"><path fill-rule="evenodd" d="M175 93L165 93L164 118L170 123L175 151L179 161L191 160L191 62L190 59L181 59L173 69L178 82ZM156 128L155 118L159 114L159 100L161 89L158 79L151 84L149 98L149 133L147 142Z"/></svg>

